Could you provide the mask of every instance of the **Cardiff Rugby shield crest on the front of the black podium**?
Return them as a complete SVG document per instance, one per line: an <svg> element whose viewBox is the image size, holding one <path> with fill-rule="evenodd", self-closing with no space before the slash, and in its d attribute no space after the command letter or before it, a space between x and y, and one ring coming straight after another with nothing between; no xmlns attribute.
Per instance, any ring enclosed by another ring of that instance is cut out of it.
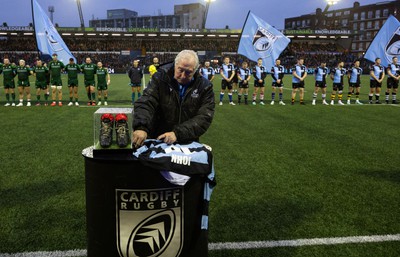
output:
<svg viewBox="0 0 400 257"><path fill-rule="evenodd" d="M120 257L176 257L183 246L183 189L116 189Z"/></svg>

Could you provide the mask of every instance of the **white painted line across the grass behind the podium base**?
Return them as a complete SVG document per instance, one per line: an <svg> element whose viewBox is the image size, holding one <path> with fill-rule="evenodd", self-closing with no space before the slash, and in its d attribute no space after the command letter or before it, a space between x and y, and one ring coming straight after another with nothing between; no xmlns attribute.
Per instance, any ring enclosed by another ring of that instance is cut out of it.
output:
<svg viewBox="0 0 400 257"><path fill-rule="evenodd" d="M390 242L390 241L400 241L400 234L310 238L310 239L280 240L280 241L210 243L208 245L208 249L210 251L231 250L231 249L243 250L243 249L260 249L260 248L275 248L275 247L300 247L300 246L312 246L312 245L364 244L364 243L378 243L378 242ZM87 255L86 250L0 253L0 257L81 257L86 255Z"/></svg>

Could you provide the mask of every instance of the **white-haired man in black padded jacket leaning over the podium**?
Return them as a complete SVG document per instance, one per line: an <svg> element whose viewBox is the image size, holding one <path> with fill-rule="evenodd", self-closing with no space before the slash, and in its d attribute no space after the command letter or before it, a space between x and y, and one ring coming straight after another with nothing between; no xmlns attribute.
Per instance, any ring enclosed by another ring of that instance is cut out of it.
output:
<svg viewBox="0 0 400 257"><path fill-rule="evenodd" d="M183 50L173 67L159 69L134 104L133 146L147 138L165 143L198 141L214 116L212 84L197 72L199 59Z"/></svg>

